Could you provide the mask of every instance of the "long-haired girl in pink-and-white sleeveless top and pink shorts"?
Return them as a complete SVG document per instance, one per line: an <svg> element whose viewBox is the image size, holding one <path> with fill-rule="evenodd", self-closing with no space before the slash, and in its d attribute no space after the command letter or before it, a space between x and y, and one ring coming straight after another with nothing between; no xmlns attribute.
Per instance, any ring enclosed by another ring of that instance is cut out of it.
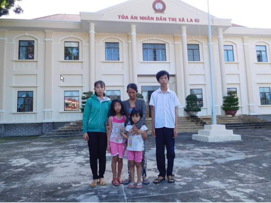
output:
<svg viewBox="0 0 271 203"><path fill-rule="evenodd" d="M118 186L123 183L121 173L123 165L122 159L125 152L124 143L126 140L121 135L121 130L124 127L125 120L126 116L122 101L120 99L114 99L111 103L111 116L108 118L108 125L111 130L107 132L107 151L112 155L112 184L114 186Z"/></svg>

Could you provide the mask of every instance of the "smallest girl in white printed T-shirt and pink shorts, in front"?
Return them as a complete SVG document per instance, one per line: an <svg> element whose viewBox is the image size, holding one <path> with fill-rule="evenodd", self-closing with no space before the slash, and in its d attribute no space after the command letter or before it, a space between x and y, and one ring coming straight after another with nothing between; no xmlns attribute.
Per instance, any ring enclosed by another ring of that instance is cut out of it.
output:
<svg viewBox="0 0 271 203"><path fill-rule="evenodd" d="M132 128L139 122L140 118L142 118L143 113L140 109L134 108L130 115L130 124L126 126L127 135L121 131L121 134L124 138L128 140L127 144L127 159L130 165L130 173L131 173L131 182L128 184L128 187L133 188L135 186L135 165L137 171L137 184L136 188L142 187L141 182L141 161L143 158L143 150L144 150L144 142L143 139L146 140L148 138L147 135L147 126L142 125L140 130L134 130L131 132ZM138 135L136 135L138 134Z"/></svg>

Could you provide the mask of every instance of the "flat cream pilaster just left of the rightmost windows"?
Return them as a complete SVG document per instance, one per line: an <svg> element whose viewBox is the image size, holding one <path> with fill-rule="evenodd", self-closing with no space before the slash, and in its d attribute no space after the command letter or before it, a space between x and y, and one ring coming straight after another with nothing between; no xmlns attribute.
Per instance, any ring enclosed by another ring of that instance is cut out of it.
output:
<svg viewBox="0 0 271 203"><path fill-rule="evenodd" d="M253 95L253 77L250 65L250 55L249 55L249 41L248 36L243 37L244 42L244 55L245 55L245 67L246 67L246 85L247 85L247 95L248 95L248 115L255 114L255 104Z"/></svg>

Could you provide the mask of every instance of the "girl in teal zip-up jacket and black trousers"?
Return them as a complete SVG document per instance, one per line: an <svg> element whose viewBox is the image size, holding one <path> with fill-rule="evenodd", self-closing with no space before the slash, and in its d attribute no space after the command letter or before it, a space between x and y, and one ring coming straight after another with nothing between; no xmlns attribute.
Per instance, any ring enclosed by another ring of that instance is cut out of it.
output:
<svg viewBox="0 0 271 203"><path fill-rule="evenodd" d="M106 165L107 136L104 123L110 114L111 100L105 96L103 81L94 83L95 94L85 104L83 114L83 139L88 142L90 152L90 168L93 175L91 187L106 185L103 180ZM99 175L97 159L99 159Z"/></svg>

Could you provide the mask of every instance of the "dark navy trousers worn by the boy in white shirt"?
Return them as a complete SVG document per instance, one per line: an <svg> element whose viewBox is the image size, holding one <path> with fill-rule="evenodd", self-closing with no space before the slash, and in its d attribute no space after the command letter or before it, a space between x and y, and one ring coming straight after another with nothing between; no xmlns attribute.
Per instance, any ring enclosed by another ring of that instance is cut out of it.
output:
<svg viewBox="0 0 271 203"><path fill-rule="evenodd" d="M155 142L156 142L156 162L157 168L159 171L159 176L165 177L166 175L172 175L173 164L175 158L175 139L174 128L155 128ZM165 165L165 145L167 148L167 159L168 159L168 168L166 174L166 165Z"/></svg>

